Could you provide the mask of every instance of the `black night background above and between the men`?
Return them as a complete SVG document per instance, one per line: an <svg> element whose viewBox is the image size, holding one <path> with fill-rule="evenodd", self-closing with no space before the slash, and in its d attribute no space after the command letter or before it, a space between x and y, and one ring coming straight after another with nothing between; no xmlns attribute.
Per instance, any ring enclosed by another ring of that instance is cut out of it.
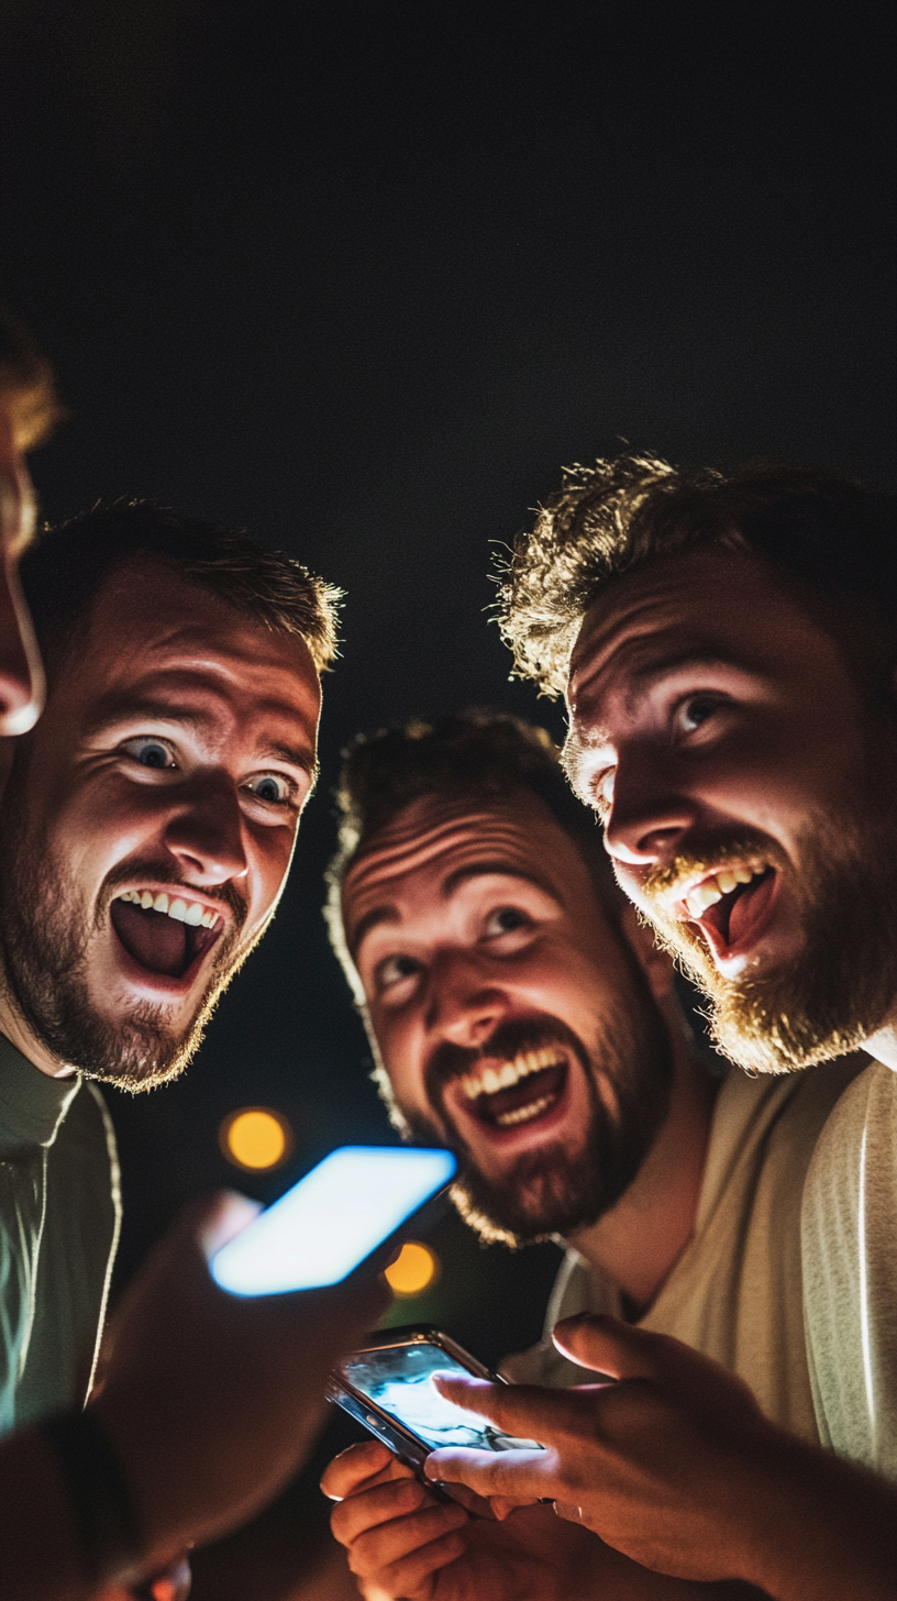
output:
<svg viewBox="0 0 897 1601"><path fill-rule="evenodd" d="M237 1180L263 1198L391 1137L320 922L338 752L463 703L559 730L484 608L490 541L561 464L625 439L897 487L891 16L0 5L0 296L70 411L34 463L46 514L159 496L348 591L276 924L187 1077L111 1097L122 1276L184 1198L234 1182L234 1106L296 1134L290 1166ZM537 1335L554 1247L481 1252L458 1223L437 1247L437 1290L402 1316L487 1359Z"/></svg>

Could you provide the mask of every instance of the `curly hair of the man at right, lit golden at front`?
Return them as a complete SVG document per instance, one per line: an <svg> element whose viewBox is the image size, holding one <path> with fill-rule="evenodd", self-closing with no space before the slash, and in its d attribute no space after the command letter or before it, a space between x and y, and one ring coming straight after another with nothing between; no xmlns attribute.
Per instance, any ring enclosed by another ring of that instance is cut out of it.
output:
<svg viewBox="0 0 897 1601"><path fill-rule="evenodd" d="M812 467L746 463L724 475L625 455L572 466L517 535L500 580L501 629L521 677L561 695L580 623L615 578L719 543L751 551L830 613L844 637L897 655L897 500ZM849 613L849 618L847 615ZM836 629L838 631L838 629Z"/></svg>

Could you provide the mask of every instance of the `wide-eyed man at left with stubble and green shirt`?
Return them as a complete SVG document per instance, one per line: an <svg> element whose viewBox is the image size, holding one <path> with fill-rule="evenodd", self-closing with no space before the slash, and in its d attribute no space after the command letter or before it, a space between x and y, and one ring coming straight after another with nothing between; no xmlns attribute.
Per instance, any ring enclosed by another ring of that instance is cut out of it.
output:
<svg viewBox="0 0 897 1601"><path fill-rule="evenodd" d="M90 1386L119 1182L85 1081L183 1071L264 932L333 653L304 568L149 504L45 535L22 581L48 698L0 809L3 1430Z"/></svg>

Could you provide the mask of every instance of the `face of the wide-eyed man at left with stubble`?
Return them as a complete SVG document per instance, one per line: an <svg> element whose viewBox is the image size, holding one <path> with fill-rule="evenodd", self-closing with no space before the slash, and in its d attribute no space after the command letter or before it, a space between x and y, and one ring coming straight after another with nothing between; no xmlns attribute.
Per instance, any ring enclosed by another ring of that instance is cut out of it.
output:
<svg viewBox="0 0 897 1601"><path fill-rule="evenodd" d="M160 565L101 592L0 818L6 994L50 1061L184 1066L280 895L319 708L301 639Z"/></svg>

